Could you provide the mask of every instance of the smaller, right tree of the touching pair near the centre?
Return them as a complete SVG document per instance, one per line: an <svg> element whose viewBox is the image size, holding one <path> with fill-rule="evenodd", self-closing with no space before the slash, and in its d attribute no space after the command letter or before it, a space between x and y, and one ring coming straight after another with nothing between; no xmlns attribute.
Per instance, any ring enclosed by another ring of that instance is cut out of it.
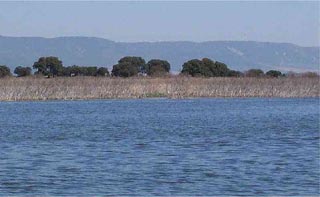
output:
<svg viewBox="0 0 320 197"><path fill-rule="evenodd" d="M163 76L170 71L170 64L166 60L153 59L147 63L146 72L150 76Z"/></svg>

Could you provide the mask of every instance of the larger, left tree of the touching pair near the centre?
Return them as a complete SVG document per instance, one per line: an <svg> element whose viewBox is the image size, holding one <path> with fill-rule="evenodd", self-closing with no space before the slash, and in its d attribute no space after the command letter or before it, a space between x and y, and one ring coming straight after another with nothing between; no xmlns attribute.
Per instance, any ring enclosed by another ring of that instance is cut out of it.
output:
<svg viewBox="0 0 320 197"><path fill-rule="evenodd" d="M112 75L116 77L131 77L139 73L146 73L146 62L141 57L123 57L112 69Z"/></svg>

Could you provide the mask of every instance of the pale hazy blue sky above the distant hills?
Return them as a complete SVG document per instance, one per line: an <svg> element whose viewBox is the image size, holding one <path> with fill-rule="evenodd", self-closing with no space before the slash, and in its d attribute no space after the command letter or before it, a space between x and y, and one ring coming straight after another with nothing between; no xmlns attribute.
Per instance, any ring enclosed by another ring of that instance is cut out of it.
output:
<svg viewBox="0 0 320 197"><path fill-rule="evenodd" d="M0 2L0 35L319 46L319 2Z"/></svg>

